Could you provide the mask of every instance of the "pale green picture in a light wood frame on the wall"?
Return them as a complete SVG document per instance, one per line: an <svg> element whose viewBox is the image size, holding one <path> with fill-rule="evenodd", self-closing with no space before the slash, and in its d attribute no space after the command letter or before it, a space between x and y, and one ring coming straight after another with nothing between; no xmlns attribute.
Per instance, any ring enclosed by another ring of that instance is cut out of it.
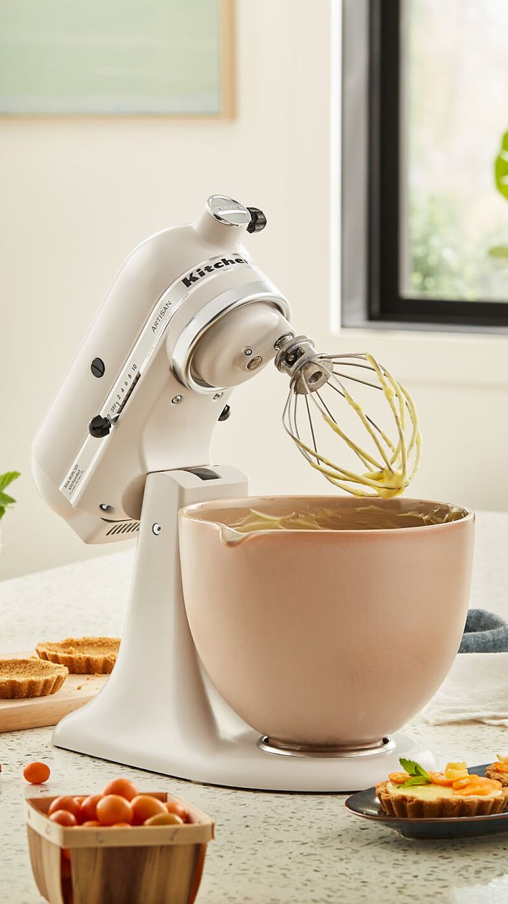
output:
<svg viewBox="0 0 508 904"><path fill-rule="evenodd" d="M230 118L234 0L0 0L0 116Z"/></svg>

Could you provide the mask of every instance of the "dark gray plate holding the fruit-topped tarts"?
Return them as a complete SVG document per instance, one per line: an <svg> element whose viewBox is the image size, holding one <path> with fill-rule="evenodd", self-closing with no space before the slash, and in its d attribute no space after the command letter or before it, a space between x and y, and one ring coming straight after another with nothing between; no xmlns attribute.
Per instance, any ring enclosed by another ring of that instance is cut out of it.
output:
<svg viewBox="0 0 508 904"><path fill-rule="evenodd" d="M471 771L484 776L484 766L473 766ZM382 810L375 788L367 788L348 797L345 805L356 816L372 819L388 826L403 838L474 838L478 835L508 833L508 810L493 816L456 816L453 819L399 819L388 816Z"/></svg>

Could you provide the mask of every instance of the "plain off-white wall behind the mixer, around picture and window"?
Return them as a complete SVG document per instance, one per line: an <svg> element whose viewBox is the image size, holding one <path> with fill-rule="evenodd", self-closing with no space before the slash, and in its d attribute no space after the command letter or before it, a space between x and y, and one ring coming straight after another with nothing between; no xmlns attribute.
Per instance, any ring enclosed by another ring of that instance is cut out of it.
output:
<svg viewBox="0 0 508 904"><path fill-rule="evenodd" d="M151 232L192 220L211 193L268 213L249 244L298 331L323 351L368 346L409 382L425 435L415 494L508 507L506 339L329 333L328 3L237 5L230 122L0 123L0 472L23 472L2 523L3 578L115 548L83 546L42 504L31 440L121 260ZM280 427L286 391L273 368L238 390L213 458L244 469L254 492L326 492Z"/></svg>

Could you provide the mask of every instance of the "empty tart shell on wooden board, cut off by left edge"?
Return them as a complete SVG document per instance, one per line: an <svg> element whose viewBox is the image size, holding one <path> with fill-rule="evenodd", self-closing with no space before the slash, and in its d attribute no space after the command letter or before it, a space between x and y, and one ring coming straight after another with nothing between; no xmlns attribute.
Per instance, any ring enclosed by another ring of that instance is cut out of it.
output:
<svg viewBox="0 0 508 904"><path fill-rule="evenodd" d="M67 678L64 665L38 659L0 659L0 700L45 697L56 693Z"/></svg>

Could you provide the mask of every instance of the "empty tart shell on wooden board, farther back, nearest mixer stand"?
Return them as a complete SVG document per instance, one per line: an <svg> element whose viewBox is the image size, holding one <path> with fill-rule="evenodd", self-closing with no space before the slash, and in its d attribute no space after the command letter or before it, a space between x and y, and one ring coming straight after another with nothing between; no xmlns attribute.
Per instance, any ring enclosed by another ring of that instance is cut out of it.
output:
<svg viewBox="0 0 508 904"><path fill-rule="evenodd" d="M117 662L119 637L66 637L58 643L37 644L40 659L65 665L71 674L109 674Z"/></svg>

